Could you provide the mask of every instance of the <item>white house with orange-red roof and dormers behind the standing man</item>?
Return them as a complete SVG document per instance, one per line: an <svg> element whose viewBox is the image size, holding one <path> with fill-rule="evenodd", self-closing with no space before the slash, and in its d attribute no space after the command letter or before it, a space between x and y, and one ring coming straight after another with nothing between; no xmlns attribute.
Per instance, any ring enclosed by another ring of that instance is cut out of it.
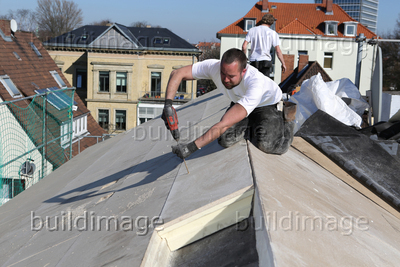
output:
<svg viewBox="0 0 400 267"><path fill-rule="evenodd" d="M296 55L295 62L298 62L300 55L308 55L310 61L320 62L333 80L349 78L355 82L358 54L356 37L363 33L368 40L375 34L333 4L332 0L328 0L325 6L259 1L244 17L217 33L221 39L221 54L232 47L241 49L248 30L256 26L268 12L277 19L272 28L279 34L283 54ZM250 48L248 46L249 51ZM371 87L375 46L364 44L362 49L359 89L365 95ZM271 78L279 84L282 81L281 63L275 58L272 61L274 71Z"/></svg>

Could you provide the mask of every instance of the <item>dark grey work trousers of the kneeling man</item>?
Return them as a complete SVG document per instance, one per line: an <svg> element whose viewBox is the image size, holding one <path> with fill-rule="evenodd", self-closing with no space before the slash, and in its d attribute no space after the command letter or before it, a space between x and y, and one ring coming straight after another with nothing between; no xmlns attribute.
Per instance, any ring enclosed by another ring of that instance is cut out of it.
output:
<svg viewBox="0 0 400 267"><path fill-rule="evenodd" d="M231 108L234 103L231 103ZM228 108L228 110L229 110ZM294 121L287 122L276 105L259 107L226 130L218 143L227 148L244 138L265 153L284 154L293 142Z"/></svg>

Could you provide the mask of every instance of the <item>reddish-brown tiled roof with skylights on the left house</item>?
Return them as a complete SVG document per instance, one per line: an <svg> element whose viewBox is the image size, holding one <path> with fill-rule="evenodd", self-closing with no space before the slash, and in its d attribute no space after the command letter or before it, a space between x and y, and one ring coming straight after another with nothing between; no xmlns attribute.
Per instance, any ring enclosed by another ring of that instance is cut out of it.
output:
<svg viewBox="0 0 400 267"><path fill-rule="evenodd" d="M0 20L0 29L3 31L6 38L8 38L5 40L0 36L0 75L8 75L23 96L35 95L37 87L58 87L57 82L50 73L50 71L54 70L58 72L64 83L68 87L71 87L54 60L50 57L49 53L34 34L30 32L17 31L14 33L14 37L11 37L9 24L10 22L7 20ZM39 58L33 51L29 44L30 42L33 42L38 48L42 55L41 58ZM18 60L13 52L16 52L21 60ZM4 101L15 100L11 97L2 83L0 83L0 97ZM73 116L77 117L87 114L87 129L90 134L101 135L106 133L106 131L104 131L97 123L93 123L95 122L94 118L92 118L90 111L76 93L74 94L74 100L77 102L78 109L73 112ZM15 102L15 104L20 107L27 107L29 101L18 101ZM95 138L82 139L81 151L94 144L96 144ZM75 153L75 150L73 154L77 154Z"/></svg>

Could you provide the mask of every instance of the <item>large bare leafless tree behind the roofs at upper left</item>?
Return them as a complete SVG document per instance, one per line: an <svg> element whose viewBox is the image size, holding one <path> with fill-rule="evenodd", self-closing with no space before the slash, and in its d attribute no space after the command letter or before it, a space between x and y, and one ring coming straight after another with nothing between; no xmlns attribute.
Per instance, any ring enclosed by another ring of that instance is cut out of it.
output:
<svg viewBox="0 0 400 267"><path fill-rule="evenodd" d="M82 24L82 10L73 1L68 0L38 0L36 21L40 37L56 37L72 31ZM48 34L48 36L42 36Z"/></svg>

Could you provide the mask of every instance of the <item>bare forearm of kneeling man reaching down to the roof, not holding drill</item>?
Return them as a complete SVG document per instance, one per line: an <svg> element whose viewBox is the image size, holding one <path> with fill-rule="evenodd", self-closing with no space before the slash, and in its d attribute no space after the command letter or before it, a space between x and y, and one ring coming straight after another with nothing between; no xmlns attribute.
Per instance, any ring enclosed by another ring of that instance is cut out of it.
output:
<svg viewBox="0 0 400 267"><path fill-rule="evenodd" d="M235 123L238 123L246 118L246 116L246 109L242 105L236 103L225 113L220 122L216 123L205 134L196 139L196 146L198 148L202 148L205 145L208 145L221 136L221 134L232 127Z"/></svg>

